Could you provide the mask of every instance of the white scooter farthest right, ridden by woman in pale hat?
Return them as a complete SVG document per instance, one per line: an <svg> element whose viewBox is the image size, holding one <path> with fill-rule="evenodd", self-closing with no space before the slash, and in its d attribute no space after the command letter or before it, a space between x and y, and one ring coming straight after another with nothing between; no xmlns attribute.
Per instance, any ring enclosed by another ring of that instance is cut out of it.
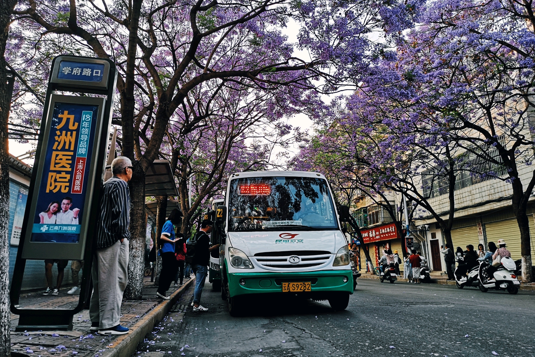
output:
<svg viewBox="0 0 535 357"><path fill-rule="evenodd" d="M520 282L514 273L515 269L515 262L508 256L500 260L499 267L482 262L478 269L479 290L484 293L489 289L507 290L509 294L513 295L518 293Z"/></svg>

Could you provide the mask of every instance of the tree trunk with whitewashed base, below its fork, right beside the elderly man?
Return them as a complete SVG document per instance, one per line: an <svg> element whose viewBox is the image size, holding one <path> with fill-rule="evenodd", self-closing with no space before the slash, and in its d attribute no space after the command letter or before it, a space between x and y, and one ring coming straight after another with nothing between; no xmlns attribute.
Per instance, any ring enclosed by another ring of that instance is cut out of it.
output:
<svg viewBox="0 0 535 357"><path fill-rule="evenodd" d="M144 254L147 234L145 222L145 172L134 162L134 174L129 182L130 200L130 252L128 258L128 285L125 299L141 300L143 295Z"/></svg>

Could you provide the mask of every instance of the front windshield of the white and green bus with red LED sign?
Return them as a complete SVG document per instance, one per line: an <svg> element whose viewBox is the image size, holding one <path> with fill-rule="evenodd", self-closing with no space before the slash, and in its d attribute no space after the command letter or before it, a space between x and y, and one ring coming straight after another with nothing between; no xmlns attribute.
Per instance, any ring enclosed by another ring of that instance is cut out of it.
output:
<svg viewBox="0 0 535 357"><path fill-rule="evenodd" d="M312 177L247 177L231 181L228 231L334 230L327 181Z"/></svg>

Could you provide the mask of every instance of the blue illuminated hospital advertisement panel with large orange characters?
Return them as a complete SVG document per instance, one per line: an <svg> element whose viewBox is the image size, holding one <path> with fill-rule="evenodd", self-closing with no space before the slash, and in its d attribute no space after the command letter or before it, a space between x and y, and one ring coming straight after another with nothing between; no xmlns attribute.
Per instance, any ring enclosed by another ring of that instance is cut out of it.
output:
<svg viewBox="0 0 535 357"><path fill-rule="evenodd" d="M28 258L50 250L42 245L30 248L34 243L77 245L71 253L81 253L103 105L104 98L52 95L37 172L39 187L28 220L29 246L24 247ZM64 247L61 253L53 251L55 256L66 254Z"/></svg>

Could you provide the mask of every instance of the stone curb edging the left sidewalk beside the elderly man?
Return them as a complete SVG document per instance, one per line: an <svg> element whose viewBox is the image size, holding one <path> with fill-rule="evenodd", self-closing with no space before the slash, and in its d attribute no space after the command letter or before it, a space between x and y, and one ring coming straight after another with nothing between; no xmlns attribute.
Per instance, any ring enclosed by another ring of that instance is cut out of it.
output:
<svg viewBox="0 0 535 357"><path fill-rule="evenodd" d="M164 300L159 303L154 309L150 310L145 316L140 318L134 325L129 326L131 332L126 335L119 336L113 341L109 350L106 348L103 357L127 357L135 352L137 345L144 340L147 333L152 331L152 328L158 321L162 321L163 317L171 310L174 303L184 293L184 291L193 284L195 278L189 279L188 282L182 285L177 291L171 294L170 300Z"/></svg>

